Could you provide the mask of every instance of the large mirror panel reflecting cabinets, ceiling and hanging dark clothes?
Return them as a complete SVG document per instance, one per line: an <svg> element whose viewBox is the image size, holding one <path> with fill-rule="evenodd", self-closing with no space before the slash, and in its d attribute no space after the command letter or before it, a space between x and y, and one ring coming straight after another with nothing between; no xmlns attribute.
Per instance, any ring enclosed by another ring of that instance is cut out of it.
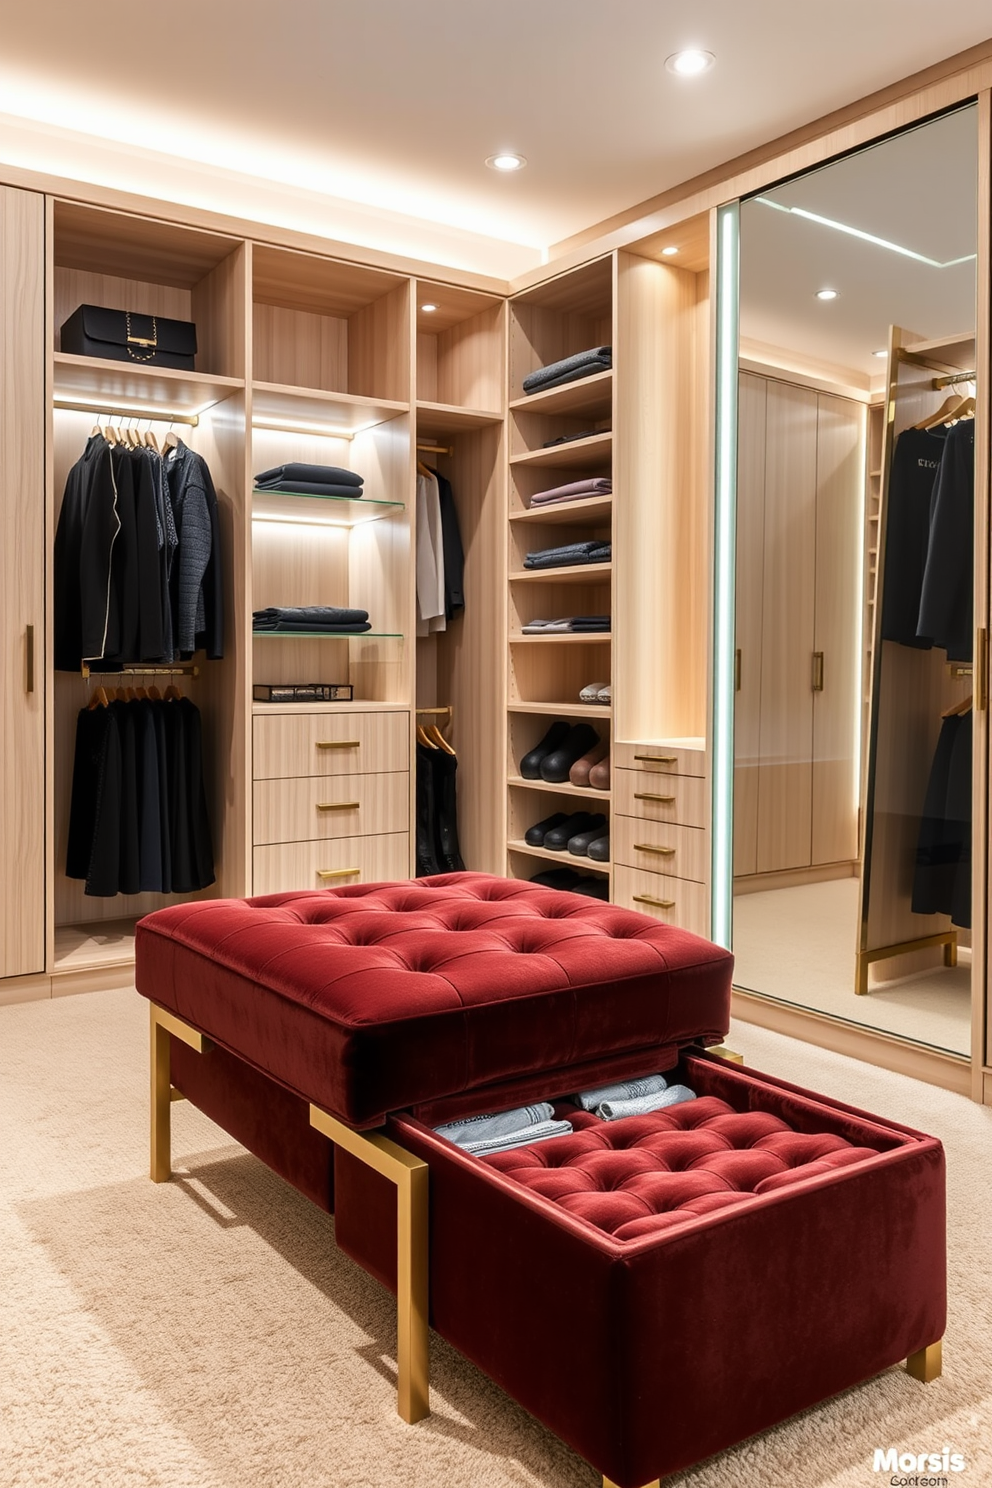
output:
<svg viewBox="0 0 992 1488"><path fill-rule="evenodd" d="M736 984L955 1054L976 219L976 106L741 207Z"/></svg>

